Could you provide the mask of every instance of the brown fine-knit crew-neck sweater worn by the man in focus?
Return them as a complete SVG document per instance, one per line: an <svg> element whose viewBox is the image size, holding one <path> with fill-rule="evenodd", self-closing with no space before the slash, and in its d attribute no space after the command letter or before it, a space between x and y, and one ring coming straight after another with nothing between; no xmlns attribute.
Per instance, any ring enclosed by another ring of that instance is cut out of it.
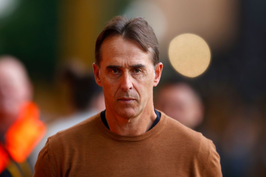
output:
<svg viewBox="0 0 266 177"><path fill-rule="evenodd" d="M222 176L211 140L161 112L140 136L120 136L100 114L48 138L34 176Z"/></svg>

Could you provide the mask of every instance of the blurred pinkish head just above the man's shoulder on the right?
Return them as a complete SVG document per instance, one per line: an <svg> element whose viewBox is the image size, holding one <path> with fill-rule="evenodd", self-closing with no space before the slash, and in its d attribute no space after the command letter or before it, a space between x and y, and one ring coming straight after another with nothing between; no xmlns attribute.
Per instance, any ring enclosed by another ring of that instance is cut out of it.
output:
<svg viewBox="0 0 266 177"><path fill-rule="evenodd" d="M166 83L155 95L155 108L195 129L203 120L204 107L200 96L186 83Z"/></svg>

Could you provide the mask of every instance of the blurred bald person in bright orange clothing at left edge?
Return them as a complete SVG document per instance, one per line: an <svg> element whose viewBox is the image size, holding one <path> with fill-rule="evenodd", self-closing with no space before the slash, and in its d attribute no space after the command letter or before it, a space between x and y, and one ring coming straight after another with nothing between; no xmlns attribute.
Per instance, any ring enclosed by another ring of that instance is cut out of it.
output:
<svg viewBox="0 0 266 177"><path fill-rule="evenodd" d="M18 59L0 57L0 176L32 176L28 155L45 133Z"/></svg>

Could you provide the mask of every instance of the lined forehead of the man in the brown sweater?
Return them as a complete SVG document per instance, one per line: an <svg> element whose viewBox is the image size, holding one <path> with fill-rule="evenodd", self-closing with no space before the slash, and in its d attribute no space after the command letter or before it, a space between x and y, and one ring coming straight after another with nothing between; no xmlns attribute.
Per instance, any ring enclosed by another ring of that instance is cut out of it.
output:
<svg viewBox="0 0 266 177"><path fill-rule="evenodd" d="M101 53L101 64L137 62L152 65L150 52L146 52L138 42L120 36L108 36L102 43Z"/></svg>

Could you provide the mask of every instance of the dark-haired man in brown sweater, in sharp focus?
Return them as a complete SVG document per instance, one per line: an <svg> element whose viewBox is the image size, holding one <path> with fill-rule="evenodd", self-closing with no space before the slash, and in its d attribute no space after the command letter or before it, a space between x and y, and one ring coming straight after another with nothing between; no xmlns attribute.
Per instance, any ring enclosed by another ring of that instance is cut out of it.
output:
<svg viewBox="0 0 266 177"><path fill-rule="evenodd" d="M158 60L147 21L113 18L93 64L106 110L48 138L35 176L221 176L213 143L153 108Z"/></svg>

